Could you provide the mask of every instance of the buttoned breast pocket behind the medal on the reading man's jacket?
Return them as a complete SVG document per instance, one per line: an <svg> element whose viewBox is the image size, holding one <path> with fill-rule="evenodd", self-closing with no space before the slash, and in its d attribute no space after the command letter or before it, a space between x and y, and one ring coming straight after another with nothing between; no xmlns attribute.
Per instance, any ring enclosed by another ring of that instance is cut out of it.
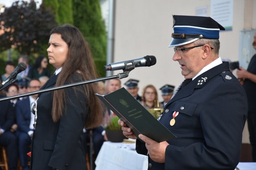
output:
<svg viewBox="0 0 256 170"><path fill-rule="evenodd" d="M179 114L175 117L175 124L169 126L169 130L175 133L186 134L192 128L192 119L197 104L187 101L177 101L173 108L171 108L170 120L173 118L175 111Z"/></svg>

